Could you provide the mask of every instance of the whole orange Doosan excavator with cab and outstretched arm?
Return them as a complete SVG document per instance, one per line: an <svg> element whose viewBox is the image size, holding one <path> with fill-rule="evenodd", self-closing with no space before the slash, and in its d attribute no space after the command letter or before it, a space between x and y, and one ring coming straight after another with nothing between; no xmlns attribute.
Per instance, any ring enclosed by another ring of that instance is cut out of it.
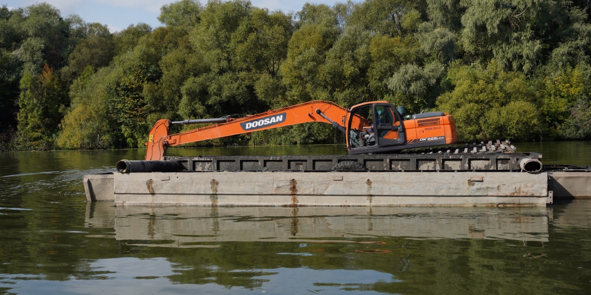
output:
<svg viewBox="0 0 591 295"><path fill-rule="evenodd" d="M430 112L405 116L404 107L387 101L371 101L346 109L332 101L314 100L266 113L235 118L197 119L171 122L161 119L148 135L146 160L162 160L169 146L215 139L294 124L322 122L345 133L350 155L392 153L456 143L453 116ZM171 124L216 123L170 135Z"/></svg>

